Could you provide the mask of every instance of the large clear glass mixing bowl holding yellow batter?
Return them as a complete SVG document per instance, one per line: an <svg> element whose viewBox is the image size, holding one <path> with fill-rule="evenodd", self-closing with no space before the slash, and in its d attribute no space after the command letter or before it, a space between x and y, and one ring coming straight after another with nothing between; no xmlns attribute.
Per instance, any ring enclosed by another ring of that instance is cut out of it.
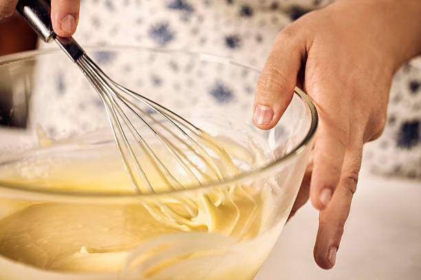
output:
<svg viewBox="0 0 421 280"><path fill-rule="evenodd" d="M181 191L120 187L105 110L78 68L58 50L2 57L2 122L25 128L0 126L0 279L252 279L299 190L314 104L296 89L263 131L251 121L257 69L185 51L87 53L116 82L206 130L240 172ZM145 207L180 201L197 202L194 226Z"/></svg>

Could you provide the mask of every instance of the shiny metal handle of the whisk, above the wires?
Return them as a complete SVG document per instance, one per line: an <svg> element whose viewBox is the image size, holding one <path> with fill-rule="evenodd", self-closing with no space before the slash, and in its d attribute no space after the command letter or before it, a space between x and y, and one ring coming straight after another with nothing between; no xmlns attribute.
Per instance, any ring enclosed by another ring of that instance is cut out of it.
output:
<svg viewBox="0 0 421 280"><path fill-rule="evenodd" d="M63 38L54 33L51 22L51 3L47 0L19 0L16 10L28 22L30 27L44 40L50 43L55 40L67 56L76 62L85 51L72 37Z"/></svg>

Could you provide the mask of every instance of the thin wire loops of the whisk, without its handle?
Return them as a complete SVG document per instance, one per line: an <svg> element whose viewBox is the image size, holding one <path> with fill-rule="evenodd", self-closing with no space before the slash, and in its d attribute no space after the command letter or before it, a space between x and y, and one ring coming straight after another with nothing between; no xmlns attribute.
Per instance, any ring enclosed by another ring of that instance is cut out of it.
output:
<svg viewBox="0 0 421 280"><path fill-rule="evenodd" d="M155 185L159 183L172 189L185 187L177 177L188 178L188 182L199 185L204 181L223 179L208 151L223 157L224 150L206 139L205 132L164 106L117 84L86 54L82 54L76 64L105 104L114 140L136 191L157 191L148 178L151 174L158 181ZM156 141L150 145L148 141L153 137ZM133 145L138 145L138 148ZM153 168L145 172L139 157L146 158L151 163L149 167ZM177 176L180 172L182 174Z"/></svg>

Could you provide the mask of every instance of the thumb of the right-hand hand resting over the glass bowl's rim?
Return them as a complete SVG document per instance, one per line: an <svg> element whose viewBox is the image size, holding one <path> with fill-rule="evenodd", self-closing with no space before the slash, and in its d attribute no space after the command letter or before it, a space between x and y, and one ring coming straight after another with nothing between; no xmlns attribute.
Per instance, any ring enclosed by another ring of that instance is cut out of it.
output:
<svg viewBox="0 0 421 280"><path fill-rule="evenodd" d="M305 58L305 44L291 29L284 29L275 38L261 71L253 106L253 122L261 129L270 129L292 100L296 77Z"/></svg>

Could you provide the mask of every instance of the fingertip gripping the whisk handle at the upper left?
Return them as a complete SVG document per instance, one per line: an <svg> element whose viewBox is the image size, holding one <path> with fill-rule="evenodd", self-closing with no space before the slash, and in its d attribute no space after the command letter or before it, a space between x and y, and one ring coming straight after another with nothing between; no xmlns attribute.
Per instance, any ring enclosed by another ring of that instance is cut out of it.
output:
<svg viewBox="0 0 421 280"><path fill-rule="evenodd" d="M76 32L79 8L80 0L51 1L51 21L58 36L69 37Z"/></svg>

